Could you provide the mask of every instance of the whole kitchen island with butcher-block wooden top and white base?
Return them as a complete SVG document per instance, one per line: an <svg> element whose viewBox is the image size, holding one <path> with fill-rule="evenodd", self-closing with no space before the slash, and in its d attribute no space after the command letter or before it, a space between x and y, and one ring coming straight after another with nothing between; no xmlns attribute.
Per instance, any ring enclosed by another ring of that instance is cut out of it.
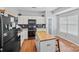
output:
<svg viewBox="0 0 79 59"><path fill-rule="evenodd" d="M56 37L45 31L39 31L36 33L36 47L38 52L55 52Z"/></svg>

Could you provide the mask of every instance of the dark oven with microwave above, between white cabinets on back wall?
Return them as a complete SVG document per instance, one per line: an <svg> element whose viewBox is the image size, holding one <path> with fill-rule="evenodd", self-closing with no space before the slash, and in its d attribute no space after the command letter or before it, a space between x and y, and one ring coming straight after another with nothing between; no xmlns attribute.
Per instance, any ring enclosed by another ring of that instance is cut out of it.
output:
<svg viewBox="0 0 79 59"><path fill-rule="evenodd" d="M28 20L28 38L29 37L35 38L35 34L36 34L36 20L29 19Z"/></svg>

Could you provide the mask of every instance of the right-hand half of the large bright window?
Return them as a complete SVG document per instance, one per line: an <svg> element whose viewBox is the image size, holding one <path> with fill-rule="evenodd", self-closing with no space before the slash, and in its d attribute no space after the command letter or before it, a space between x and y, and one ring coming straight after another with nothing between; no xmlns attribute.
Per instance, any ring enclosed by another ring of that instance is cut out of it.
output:
<svg viewBox="0 0 79 59"><path fill-rule="evenodd" d="M78 35L78 15L68 16L68 33Z"/></svg>

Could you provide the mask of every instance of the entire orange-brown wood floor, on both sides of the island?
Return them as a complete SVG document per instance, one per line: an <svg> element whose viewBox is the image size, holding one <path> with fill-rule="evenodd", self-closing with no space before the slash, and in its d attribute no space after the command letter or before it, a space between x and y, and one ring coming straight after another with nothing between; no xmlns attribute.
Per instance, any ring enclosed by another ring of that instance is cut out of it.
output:
<svg viewBox="0 0 79 59"><path fill-rule="evenodd" d="M60 39L59 43L60 43L60 52L79 52L79 46L76 46L63 39ZM33 38L25 39L20 51L21 52L37 52L35 39Z"/></svg>

